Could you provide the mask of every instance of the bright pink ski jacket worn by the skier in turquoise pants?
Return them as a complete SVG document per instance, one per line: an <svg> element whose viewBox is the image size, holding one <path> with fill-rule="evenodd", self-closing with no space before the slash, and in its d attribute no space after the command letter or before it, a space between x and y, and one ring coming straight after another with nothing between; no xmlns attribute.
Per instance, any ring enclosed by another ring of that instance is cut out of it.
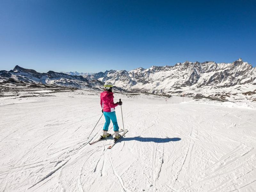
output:
<svg viewBox="0 0 256 192"><path fill-rule="evenodd" d="M100 93L100 106L104 112L113 112L118 104L114 103L112 92L103 91Z"/></svg>

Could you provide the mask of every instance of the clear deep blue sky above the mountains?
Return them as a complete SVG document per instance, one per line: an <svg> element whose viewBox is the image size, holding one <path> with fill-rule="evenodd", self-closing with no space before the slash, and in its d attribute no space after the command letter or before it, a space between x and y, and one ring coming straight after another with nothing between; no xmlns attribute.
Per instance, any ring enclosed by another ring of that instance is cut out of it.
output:
<svg viewBox="0 0 256 192"><path fill-rule="evenodd" d="M0 0L0 70L256 66L256 1Z"/></svg>

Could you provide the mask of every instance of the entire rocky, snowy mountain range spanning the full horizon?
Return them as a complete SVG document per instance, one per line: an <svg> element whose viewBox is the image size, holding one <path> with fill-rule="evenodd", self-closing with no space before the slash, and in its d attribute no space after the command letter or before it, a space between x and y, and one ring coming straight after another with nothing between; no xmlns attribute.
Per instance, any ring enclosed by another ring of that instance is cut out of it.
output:
<svg viewBox="0 0 256 192"><path fill-rule="evenodd" d="M108 70L99 73L49 71L38 73L16 66L0 71L0 84L55 85L78 89L102 89L103 82L112 82L119 91L204 96L228 100L256 101L256 68L238 59L233 63L213 61L177 63L174 66L152 66L131 71ZM70 75L74 74L74 75ZM75 75L75 74L79 74ZM11 81L11 82L10 82Z"/></svg>

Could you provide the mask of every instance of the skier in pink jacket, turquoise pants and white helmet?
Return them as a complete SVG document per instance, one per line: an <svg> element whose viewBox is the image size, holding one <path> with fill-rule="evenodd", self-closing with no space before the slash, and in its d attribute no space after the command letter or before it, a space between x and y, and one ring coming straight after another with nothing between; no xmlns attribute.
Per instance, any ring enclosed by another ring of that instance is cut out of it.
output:
<svg viewBox="0 0 256 192"><path fill-rule="evenodd" d="M106 120L103 127L102 138L110 136L110 134L108 133L108 126L110 124L110 119L111 119L114 126L115 138L118 139L121 137L121 135L118 132L119 127L116 120L115 107L117 105L122 105L123 102L120 101L120 102L114 103L112 87L113 87L113 84L111 82L105 82L104 91L100 93L100 105L101 105L102 113Z"/></svg>

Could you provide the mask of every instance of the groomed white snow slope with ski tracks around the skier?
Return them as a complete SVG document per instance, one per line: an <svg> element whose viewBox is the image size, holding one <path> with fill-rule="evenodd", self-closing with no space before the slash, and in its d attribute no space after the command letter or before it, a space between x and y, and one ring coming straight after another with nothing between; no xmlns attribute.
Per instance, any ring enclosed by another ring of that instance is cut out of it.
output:
<svg viewBox="0 0 256 192"><path fill-rule="evenodd" d="M0 98L0 191L256 189L253 105L115 93L129 132L107 149L112 137L89 145L103 117L87 139L99 92L39 93L51 95Z"/></svg>

